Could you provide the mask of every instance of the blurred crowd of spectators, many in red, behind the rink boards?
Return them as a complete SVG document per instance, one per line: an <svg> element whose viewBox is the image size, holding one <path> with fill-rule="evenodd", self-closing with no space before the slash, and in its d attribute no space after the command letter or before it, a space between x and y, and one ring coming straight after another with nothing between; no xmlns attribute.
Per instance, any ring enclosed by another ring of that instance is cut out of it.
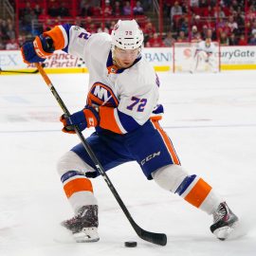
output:
<svg viewBox="0 0 256 256"><path fill-rule="evenodd" d="M75 19L71 19L71 3L47 0L44 9L42 1L24 1L16 9L18 38L14 21L0 19L0 49L18 49L28 39L64 21L91 33L111 33L119 17L131 14L144 32L145 46L173 46L174 42L199 42L206 38L219 41L221 46L256 46L256 0L247 0L247 9L243 0L163 0L163 33L151 19L152 0L135 1L133 11L130 1L105 0L103 12L101 0L80 0Z"/></svg>

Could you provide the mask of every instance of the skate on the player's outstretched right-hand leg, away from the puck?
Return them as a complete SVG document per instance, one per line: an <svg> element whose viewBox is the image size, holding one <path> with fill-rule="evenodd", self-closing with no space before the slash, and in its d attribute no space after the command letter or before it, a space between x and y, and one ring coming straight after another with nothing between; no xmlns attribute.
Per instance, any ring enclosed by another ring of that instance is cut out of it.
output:
<svg viewBox="0 0 256 256"><path fill-rule="evenodd" d="M210 231L220 240L226 240L238 222L238 217L229 209L226 202L213 212L213 224Z"/></svg>

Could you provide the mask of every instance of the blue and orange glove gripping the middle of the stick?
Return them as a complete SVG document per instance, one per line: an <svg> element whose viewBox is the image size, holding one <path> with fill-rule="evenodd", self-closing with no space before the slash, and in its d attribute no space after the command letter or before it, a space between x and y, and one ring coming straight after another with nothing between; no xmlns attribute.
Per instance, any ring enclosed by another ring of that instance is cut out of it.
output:
<svg viewBox="0 0 256 256"><path fill-rule="evenodd" d="M63 132L68 134L76 133L75 125L79 127L80 131L83 131L85 128L95 127L100 123L99 113L91 106L86 106L70 117L63 115L60 120L64 124Z"/></svg>

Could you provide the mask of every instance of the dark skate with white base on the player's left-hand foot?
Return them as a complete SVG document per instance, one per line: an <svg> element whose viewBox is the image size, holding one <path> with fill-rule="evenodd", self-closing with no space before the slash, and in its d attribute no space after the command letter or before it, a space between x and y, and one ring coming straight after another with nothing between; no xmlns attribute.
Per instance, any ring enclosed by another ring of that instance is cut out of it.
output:
<svg viewBox="0 0 256 256"><path fill-rule="evenodd" d="M77 243L97 242L98 234L98 206L83 206L72 219L62 223L64 228L70 230Z"/></svg>

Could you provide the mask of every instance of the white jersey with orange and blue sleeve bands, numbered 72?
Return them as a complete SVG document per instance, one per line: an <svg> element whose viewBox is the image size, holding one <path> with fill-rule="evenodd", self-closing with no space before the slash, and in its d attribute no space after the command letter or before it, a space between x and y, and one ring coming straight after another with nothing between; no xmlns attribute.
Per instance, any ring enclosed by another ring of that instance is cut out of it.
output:
<svg viewBox="0 0 256 256"><path fill-rule="evenodd" d="M44 34L53 39L56 50L84 60L90 75L87 104L100 106L102 129L125 134L150 119L158 101L159 81L143 57L129 68L118 69L107 33L90 34L82 27L63 25Z"/></svg>

